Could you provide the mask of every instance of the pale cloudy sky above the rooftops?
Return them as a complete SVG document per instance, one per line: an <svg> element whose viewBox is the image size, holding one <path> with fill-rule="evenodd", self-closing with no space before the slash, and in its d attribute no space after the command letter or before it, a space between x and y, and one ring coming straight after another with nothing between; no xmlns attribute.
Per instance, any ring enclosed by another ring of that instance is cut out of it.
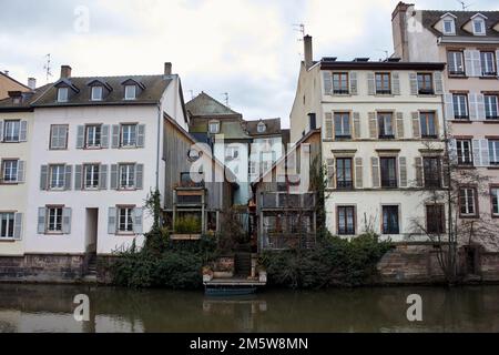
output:
<svg viewBox="0 0 499 355"><path fill-rule="evenodd" d="M457 0L417 9L459 10ZM391 54L398 0L0 0L0 70L47 83L69 64L74 77L180 74L185 101L204 91L247 120L288 126L303 58L303 23L314 59ZM499 10L469 0L469 10Z"/></svg>

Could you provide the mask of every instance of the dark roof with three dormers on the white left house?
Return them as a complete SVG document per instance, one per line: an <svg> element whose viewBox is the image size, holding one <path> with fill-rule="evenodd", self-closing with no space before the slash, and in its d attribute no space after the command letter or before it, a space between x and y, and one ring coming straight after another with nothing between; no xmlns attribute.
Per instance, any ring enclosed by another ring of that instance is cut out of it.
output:
<svg viewBox="0 0 499 355"><path fill-rule="evenodd" d="M90 101L90 87L89 83L93 79L105 82L112 91L109 94L104 94L102 101ZM145 89L138 91L135 100L124 100L124 85L123 82L128 80L134 80L144 85ZM165 75L123 75L123 77L80 77L69 78L68 82L71 83L79 92L73 92L70 95L68 102L58 102L58 91L55 85L60 84L58 81L52 84L44 94L38 100L33 101L34 106L71 106L71 105L109 105L109 104L154 104L157 103L166 90L167 85L172 81L170 77Z"/></svg>

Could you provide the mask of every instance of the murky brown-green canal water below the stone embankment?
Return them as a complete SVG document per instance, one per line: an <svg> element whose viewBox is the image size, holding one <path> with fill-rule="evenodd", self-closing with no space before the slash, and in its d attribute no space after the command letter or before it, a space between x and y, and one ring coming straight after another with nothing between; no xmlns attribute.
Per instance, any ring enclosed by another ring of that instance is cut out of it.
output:
<svg viewBox="0 0 499 355"><path fill-rule="evenodd" d="M411 294L421 296L422 322L407 320ZM74 317L77 295L88 296L89 321ZM0 332L499 332L499 286L265 290L213 298L202 292L0 284Z"/></svg>

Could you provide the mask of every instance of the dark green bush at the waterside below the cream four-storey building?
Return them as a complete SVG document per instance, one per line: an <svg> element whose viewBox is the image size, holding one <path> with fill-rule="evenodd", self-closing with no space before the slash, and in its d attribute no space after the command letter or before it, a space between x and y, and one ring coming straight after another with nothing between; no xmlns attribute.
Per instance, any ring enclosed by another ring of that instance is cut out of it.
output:
<svg viewBox="0 0 499 355"><path fill-rule="evenodd" d="M352 241L329 235L310 250L265 252L261 263L267 270L268 283L277 286L358 286L376 273L376 264L390 247L373 234Z"/></svg>

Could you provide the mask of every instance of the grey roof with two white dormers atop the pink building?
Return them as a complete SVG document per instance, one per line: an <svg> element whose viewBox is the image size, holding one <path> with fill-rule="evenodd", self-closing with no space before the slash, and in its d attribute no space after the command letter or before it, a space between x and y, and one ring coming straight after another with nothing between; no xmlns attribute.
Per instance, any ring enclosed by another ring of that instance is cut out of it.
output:
<svg viewBox="0 0 499 355"><path fill-rule="evenodd" d="M438 30L434 28L435 24L440 20L440 18L446 13L451 13L456 17L456 36L457 37L476 37L468 31L465 31L462 28L468 23L471 18L481 13L487 17L486 21L486 33L488 37L499 38L499 32L493 30L493 27L499 22L499 11L434 11L434 10L422 10L422 26L434 32L436 36L440 37L444 33L440 33Z"/></svg>

